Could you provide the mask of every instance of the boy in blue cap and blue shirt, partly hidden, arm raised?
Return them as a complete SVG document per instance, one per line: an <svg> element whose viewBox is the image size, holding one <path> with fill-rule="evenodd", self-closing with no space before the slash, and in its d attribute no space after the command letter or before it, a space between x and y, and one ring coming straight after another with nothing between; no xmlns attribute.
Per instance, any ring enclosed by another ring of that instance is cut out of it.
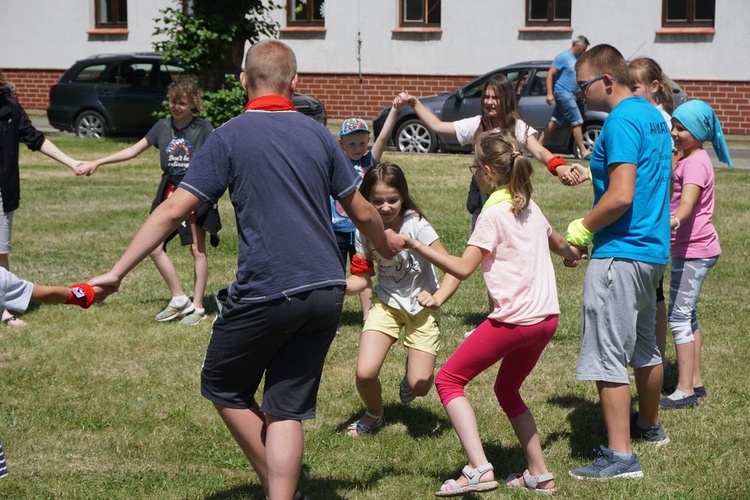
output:
<svg viewBox="0 0 750 500"><path fill-rule="evenodd" d="M352 164L360 180L365 176L365 172L380 162L383 151L388 145L388 139L391 136L393 125L396 123L398 109L402 103L400 100L394 100L388 118L383 124L377 139L372 145L371 150L367 150L370 144L370 128L362 118L347 118L341 123L339 130L339 145L344 150L346 157ZM341 264L346 270L346 263L350 261L356 249L354 248L355 234L357 228L346 215L339 202L331 198L331 222L333 223L333 232L336 235L336 243L341 254ZM362 304L362 321L367 319L370 311L370 302L372 300L372 289L367 288L359 295L359 301Z"/></svg>

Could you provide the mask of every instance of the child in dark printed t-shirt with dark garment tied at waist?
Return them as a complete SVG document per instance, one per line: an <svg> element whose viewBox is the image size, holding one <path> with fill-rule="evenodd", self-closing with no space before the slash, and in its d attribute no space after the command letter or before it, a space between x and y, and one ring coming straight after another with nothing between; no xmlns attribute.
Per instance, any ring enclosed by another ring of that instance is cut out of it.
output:
<svg viewBox="0 0 750 500"><path fill-rule="evenodd" d="M193 113L200 111L201 99L192 80L178 80L169 87L169 111L172 116L162 118L148 131L146 136L132 146L105 158L84 162L76 168L78 175L91 175L101 165L119 163L135 158L154 146L161 151L162 178L156 197L151 205L153 212L174 193L190 167L190 162L213 131L211 124ZM180 324L194 326L206 319L203 308L203 293L208 283L208 258L206 257L206 233L211 234L211 244L219 244L221 229L216 205L204 203L190 214L164 244L151 252L151 260L159 270L172 293L167 307L154 319L159 322L182 318ZM182 289L177 270L166 252L167 243L176 235L183 245L190 245L194 260L193 300Z"/></svg>

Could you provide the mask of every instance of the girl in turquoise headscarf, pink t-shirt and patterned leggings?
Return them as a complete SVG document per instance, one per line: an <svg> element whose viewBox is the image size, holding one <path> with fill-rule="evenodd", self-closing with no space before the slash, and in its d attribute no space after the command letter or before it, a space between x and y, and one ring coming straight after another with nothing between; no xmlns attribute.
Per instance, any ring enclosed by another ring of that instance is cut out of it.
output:
<svg viewBox="0 0 750 500"><path fill-rule="evenodd" d="M706 395L701 377L703 339L698 326L698 298L703 281L721 254L714 213L714 167L703 141L711 141L719 160L732 166L724 133L714 110L688 101L674 111L672 139L682 151L672 176L672 272L669 280L669 329L677 355L678 381L661 399L664 409L687 408Z"/></svg>

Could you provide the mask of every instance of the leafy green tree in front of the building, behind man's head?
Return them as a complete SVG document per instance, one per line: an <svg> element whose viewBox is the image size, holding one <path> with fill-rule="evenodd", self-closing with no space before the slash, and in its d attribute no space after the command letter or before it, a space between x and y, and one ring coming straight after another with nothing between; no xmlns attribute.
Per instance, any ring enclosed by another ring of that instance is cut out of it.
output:
<svg viewBox="0 0 750 500"><path fill-rule="evenodd" d="M243 100L237 75L245 43L276 37L278 24L269 14L280 7L268 0L193 0L192 11L184 13L176 0L155 19L160 41L154 48L196 75L206 101L204 115L214 125L241 110L235 103Z"/></svg>

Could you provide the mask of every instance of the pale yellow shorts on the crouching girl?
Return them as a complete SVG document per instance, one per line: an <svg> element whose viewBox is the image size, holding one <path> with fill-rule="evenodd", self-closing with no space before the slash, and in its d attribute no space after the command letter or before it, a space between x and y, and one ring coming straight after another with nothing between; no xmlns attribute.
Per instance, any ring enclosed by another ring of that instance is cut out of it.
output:
<svg viewBox="0 0 750 500"><path fill-rule="evenodd" d="M406 347L437 356L440 351L439 316L438 311L427 308L412 316L383 303L373 294L370 314L363 330L375 330L398 340L403 329Z"/></svg>

